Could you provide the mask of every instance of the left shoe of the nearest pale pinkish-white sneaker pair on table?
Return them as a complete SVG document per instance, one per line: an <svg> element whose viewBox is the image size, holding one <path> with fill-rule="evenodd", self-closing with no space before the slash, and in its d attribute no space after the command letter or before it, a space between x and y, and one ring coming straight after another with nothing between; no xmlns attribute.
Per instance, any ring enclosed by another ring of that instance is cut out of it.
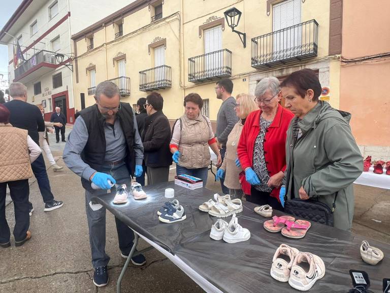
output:
<svg viewBox="0 0 390 293"><path fill-rule="evenodd" d="M271 277L280 282L287 282L290 278L291 266L298 254L297 248L281 244L275 251L272 259Z"/></svg>

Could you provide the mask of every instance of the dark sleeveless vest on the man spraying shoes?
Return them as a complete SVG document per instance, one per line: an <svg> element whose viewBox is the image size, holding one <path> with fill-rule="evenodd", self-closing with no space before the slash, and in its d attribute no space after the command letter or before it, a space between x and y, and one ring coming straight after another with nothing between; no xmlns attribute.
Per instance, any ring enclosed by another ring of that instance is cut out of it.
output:
<svg viewBox="0 0 390 293"><path fill-rule="evenodd" d="M128 103L120 103L121 110L116 114L119 118L120 126L124 133L127 144L127 157L125 163L129 173L134 174L135 153L134 153L134 122L133 108ZM98 105L94 104L88 108L79 111L80 116L85 122L88 130L88 140L84 150L81 153L81 159L96 171L102 170L106 156L106 135L104 124L106 119L100 113ZM91 191L91 183L81 178L84 189Z"/></svg>

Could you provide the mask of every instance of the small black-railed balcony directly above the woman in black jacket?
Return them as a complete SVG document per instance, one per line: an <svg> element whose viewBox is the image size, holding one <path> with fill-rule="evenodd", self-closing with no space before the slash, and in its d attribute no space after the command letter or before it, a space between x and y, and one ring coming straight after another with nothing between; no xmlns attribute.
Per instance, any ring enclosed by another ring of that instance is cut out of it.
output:
<svg viewBox="0 0 390 293"><path fill-rule="evenodd" d="M171 67L161 65L140 71L140 91L151 92L172 87Z"/></svg>

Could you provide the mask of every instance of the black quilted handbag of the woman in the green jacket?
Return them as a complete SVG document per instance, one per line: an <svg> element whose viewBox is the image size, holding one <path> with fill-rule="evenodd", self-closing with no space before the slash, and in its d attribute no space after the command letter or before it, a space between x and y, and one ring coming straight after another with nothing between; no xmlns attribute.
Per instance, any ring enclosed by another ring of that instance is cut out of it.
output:
<svg viewBox="0 0 390 293"><path fill-rule="evenodd" d="M318 200L293 198L284 203L284 211L312 222L317 222L333 227L333 212L335 210L337 193L333 202L333 209Z"/></svg>

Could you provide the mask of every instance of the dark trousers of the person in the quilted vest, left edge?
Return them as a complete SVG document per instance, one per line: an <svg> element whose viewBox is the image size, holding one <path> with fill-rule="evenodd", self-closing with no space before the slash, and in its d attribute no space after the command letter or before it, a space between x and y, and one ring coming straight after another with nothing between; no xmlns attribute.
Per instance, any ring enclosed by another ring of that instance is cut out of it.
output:
<svg viewBox="0 0 390 293"><path fill-rule="evenodd" d="M0 183L0 243L10 241L11 232L6 219L6 194L7 184L10 188L11 198L14 201L15 210L15 241L22 241L26 238L26 232L30 225L28 215L28 179Z"/></svg>

